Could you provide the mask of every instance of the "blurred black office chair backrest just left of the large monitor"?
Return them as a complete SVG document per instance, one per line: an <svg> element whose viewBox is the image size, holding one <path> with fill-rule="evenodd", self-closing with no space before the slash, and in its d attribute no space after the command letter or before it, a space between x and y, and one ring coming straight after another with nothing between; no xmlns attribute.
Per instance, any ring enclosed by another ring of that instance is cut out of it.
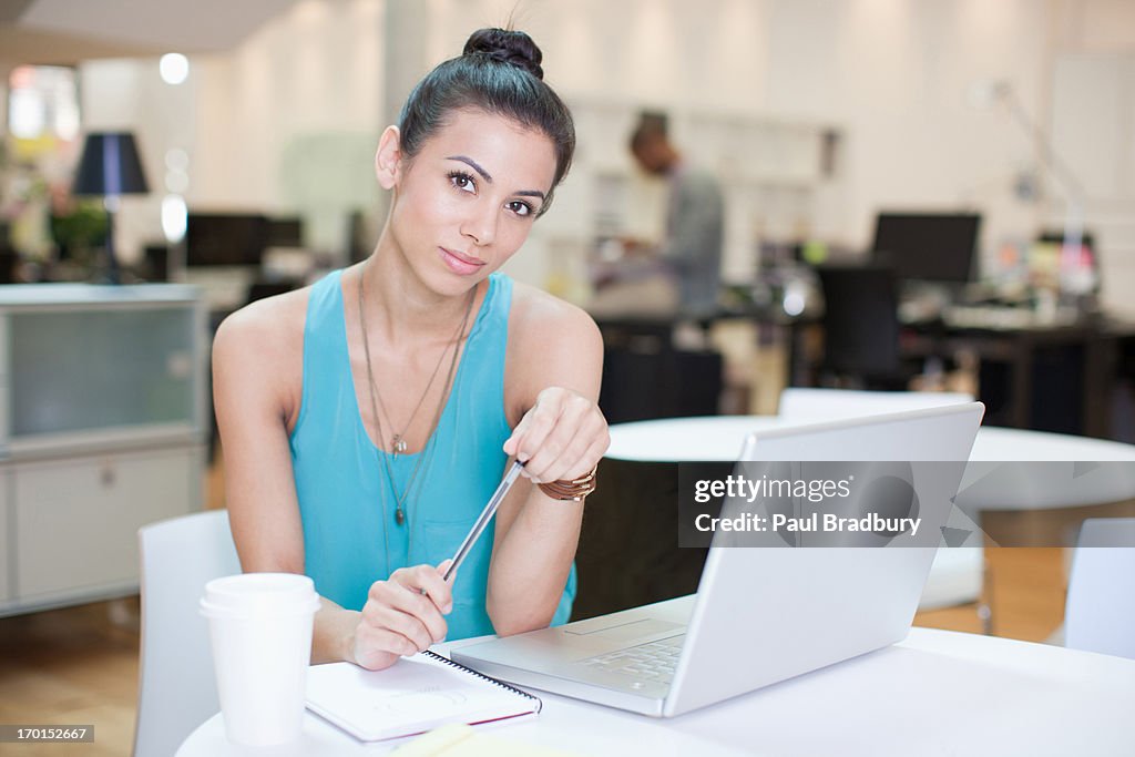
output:
<svg viewBox="0 0 1135 757"><path fill-rule="evenodd" d="M822 376L854 388L905 389L893 271L865 266L816 272L824 295Z"/></svg>

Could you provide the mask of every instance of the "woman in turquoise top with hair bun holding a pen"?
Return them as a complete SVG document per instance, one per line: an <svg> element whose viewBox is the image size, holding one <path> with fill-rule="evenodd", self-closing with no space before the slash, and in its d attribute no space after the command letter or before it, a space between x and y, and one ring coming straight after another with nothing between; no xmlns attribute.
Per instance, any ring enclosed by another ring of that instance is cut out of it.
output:
<svg viewBox="0 0 1135 757"><path fill-rule="evenodd" d="M582 498L608 443L602 342L582 311L495 272L574 149L540 59L522 32L476 32L381 136L393 197L372 255L217 333L241 563L313 578L314 662L380 668L571 611ZM444 581L510 459L528 481Z"/></svg>

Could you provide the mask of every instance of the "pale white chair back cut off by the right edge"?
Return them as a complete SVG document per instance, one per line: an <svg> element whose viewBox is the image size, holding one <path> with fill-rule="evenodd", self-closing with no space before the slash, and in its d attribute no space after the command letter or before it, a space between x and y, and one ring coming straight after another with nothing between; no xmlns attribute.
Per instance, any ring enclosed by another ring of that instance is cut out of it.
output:
<svg viewBox="0 0 1135 757"><path fill-rule="evenodd" d="M1068 579L1065 646L1135 658L1135 518L1084 521Z"/></svg>

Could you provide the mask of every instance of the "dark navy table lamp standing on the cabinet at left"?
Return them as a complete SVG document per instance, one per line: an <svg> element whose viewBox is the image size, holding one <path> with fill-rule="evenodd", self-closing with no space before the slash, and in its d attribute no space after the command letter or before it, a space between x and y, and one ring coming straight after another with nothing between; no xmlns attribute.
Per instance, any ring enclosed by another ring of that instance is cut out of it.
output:
<svg viewBox="0 0 1135 757"><path fill-rule="evenodd" d="M86 135L78 174L72 188L76 195L103 197L107 208L107 280L119 284L115 258L115 213L124 194L146 194L150 191L138 158L137 144L129 132L103 132Z"/></svg>

